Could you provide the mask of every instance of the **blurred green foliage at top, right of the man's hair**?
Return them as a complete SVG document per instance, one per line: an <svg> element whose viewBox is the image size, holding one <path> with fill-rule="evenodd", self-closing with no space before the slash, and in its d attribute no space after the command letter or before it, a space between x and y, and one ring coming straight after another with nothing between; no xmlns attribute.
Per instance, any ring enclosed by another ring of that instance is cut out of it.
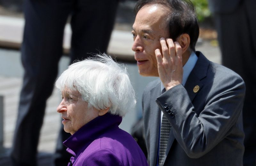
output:
<svg viewBox="0 0 256 166"><path fill-rule="evenodd" d="M207 0L191 0L196 8L196 14L199 22L203 22L205 18L210 17L211 12L208 8Z"/></svg>

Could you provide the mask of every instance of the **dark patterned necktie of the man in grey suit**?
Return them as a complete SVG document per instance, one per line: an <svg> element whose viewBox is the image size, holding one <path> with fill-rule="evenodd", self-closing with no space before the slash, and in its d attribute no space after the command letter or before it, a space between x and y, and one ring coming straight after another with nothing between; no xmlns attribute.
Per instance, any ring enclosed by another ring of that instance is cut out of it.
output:
<svg viewBox="0 0 256 166"><path fill-rule="evenodd" d="M165 92L165 89L162 93ZM166 117L163 115L162 124L161 124L161 132L160 132L160 147L159 147L159 166L164 164L166 146L169 139L169 134L171 130L171 124L168 122Z"/></svg>

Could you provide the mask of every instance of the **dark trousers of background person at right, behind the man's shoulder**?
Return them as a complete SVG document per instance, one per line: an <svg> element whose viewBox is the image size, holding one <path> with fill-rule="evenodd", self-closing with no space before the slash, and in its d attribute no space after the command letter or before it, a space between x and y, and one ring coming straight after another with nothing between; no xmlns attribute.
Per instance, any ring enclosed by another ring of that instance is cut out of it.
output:
<svg viewBox="0 0 256 166"><path fill-rule="evenodd" d="M243 107L244 166L256 165L256 1L241 1L232 13L215 14L224 66L246 85Z"/></svg>

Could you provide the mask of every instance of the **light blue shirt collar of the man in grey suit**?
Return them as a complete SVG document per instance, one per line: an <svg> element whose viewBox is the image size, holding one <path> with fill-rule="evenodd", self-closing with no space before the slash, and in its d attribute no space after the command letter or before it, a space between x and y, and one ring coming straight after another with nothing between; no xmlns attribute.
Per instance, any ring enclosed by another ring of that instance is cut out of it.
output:
<svg viewBox="0 0 256 166"><path fill-rule="evenodd" d="M188 58L188 61L183 66L183 76L182 76L182 83L181 83L183 86L187 82L189 74L195 67L197 59L198 57L196 56L195 52L192 52ZM163 91L163 89L164 89L164 84L161 82L161 92Z"/></svg>

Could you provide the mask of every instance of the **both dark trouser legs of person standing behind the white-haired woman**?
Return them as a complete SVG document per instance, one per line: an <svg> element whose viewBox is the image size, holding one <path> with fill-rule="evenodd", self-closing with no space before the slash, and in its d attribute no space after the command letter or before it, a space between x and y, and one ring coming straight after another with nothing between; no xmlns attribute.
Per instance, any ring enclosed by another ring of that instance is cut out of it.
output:
<svg viewBox="0 0 256 166"><path fill-rule="evenodd" d="M36 152L46 100L52 93L62 56L64 27L72 28L70 58L106 52L118 0L25 0L25 28L21 60L25 69L11 158L13 165L36 165ZM56 106L57 107L57 106ZM60 119L58 119L60 120ZM55 165L67 165L70 155L62 142L70 136L60 131Z"/></svg>

